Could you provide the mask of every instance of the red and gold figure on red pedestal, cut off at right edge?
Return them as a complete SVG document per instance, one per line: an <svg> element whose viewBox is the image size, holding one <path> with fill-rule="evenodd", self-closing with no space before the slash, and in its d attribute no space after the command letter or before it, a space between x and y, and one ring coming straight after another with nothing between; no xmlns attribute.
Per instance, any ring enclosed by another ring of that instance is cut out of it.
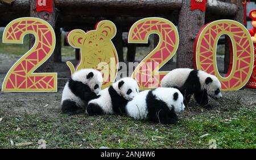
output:
<svg viewBox="0 0 256 160"><path fill-rule="evenodd" d="M253 73L251 73L251 77L246 84L246 87L256 88L256 10L251 10L249 13L250 18L253 20L251 24L253 28L249 29L249 33L251 35L251 39L253 40L254 46L254 65L253 65Z"/></svg>

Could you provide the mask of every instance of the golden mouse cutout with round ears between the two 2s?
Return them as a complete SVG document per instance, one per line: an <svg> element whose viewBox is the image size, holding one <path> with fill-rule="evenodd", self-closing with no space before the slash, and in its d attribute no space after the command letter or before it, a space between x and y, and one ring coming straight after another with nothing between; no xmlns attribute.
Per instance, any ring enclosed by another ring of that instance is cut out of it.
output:
<svg viewBox="0 0 256 160"><path fill-rule="evenodd" d="M94 68L102 72L104 82L102 89L109 87L115 80L118 71L118 55L111 41L117 32L114 23L102 20L96 25L96 29L84 32L75 29L68 33L68 43L74 48L80 49L79 64L76 68L71 62L67 62L71 74L82 68Z"/></svg>

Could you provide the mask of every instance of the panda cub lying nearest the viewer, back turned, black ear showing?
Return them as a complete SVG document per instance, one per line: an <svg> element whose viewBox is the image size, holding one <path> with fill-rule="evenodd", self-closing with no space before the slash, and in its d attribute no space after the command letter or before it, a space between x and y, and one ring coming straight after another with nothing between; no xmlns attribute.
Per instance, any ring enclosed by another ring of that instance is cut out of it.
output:
<svg viewBox="0 0 256 160"><path fill-rule="evenodd" d="M185 106L178 89L159 87L144 90L127 103L127 115L134 119L145 119L155 123L174 124Z"/></svg>

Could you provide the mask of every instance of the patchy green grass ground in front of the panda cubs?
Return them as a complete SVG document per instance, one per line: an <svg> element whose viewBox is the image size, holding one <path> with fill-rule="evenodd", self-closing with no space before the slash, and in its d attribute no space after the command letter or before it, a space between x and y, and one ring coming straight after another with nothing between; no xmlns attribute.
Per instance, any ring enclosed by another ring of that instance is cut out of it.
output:
<svg viewBox="0 0 256 160"><path fill-rule="evenodd" d="M38 148L40 139L47 148L209 148L214 141L217 148L256 148L255 113L255 106L187 113L175 125L162 125L125 116L52 118L0 110L0 148Z"/></svg>

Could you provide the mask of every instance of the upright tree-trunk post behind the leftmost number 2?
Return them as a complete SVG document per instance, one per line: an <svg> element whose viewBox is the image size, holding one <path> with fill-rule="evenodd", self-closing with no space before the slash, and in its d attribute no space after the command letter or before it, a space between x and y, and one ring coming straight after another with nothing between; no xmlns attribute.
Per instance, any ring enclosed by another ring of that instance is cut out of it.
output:
<svg viewBox="0 0 256 160"><path fill-rule="evenodd" d="M53 3L53 11L51 13L46 12L46 11L36 12L36 1L34 1L34 0L31 0L30 4L31 4L30 5L30 16L46 20L54 29L55 28L55 17L56 17L54 3ZM35 37L30 36L30 47L32 47L34 44L35 44ZM36 72L53 72L53 64L54 64L53 61L54 61L54 57L52 54L51 57L36 70Z"/></svg>

